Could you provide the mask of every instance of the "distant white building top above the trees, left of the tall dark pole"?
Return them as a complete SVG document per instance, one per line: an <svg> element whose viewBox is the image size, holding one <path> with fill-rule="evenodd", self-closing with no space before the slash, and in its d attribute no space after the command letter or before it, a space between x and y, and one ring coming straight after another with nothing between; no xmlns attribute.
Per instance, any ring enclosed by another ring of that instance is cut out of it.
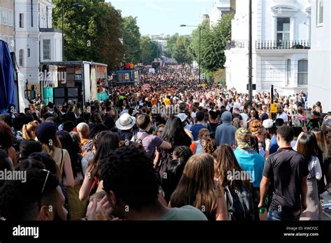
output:
<svg viewBox="0 0 331 243"><path fill-rule="evenodd" d="M216 26L221 20L223 13L234 11L235 0L218 0L214 3L212 11L209 13L210 27Z"/></svg>

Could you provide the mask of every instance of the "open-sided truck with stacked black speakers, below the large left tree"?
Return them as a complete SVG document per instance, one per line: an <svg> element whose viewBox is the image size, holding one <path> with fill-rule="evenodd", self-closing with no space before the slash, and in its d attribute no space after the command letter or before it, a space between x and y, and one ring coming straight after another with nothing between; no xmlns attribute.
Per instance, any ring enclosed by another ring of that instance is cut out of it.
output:
<svg viewBox="0 0 331 243"><path fill-rule="evenodd" d="M104 101L110 89L107 68L91 61L42 62L39 80L43 103Z"/></svg>

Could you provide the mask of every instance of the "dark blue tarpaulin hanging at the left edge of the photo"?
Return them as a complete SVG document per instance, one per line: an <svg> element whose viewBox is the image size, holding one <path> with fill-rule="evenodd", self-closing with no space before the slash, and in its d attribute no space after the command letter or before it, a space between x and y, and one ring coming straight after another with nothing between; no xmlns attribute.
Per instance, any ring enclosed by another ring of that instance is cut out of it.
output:
<svg viewBox="0 0 331 243"><path fill-rule="evenodd" d="M8 44L0 40L0 113L15 103L14 68Z"/></svg>

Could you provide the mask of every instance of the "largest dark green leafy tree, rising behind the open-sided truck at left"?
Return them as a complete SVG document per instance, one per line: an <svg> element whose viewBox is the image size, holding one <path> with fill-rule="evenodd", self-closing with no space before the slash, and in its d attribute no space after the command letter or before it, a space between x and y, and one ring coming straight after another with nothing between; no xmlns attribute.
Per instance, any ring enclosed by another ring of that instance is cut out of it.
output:
<svg viewBox="0 0 331 243"><path fill-rule="evenodd" d="M53 23L58 29L62 28L64 7L64 60L101 62L108 64L110 71L124 55L119 41L121 13L103 0L80 2L81 8L71 0L54 0Z"/></svg>

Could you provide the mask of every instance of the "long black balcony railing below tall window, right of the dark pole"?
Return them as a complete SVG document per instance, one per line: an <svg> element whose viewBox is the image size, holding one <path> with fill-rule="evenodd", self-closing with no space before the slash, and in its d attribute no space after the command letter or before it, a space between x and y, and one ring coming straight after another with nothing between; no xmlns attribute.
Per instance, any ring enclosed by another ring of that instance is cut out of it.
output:
<svg viewBox="0 0 331 243"><path fill-rule="evenodd" d="M256 40L256 50L310 49L310 40Z"/></svg>

